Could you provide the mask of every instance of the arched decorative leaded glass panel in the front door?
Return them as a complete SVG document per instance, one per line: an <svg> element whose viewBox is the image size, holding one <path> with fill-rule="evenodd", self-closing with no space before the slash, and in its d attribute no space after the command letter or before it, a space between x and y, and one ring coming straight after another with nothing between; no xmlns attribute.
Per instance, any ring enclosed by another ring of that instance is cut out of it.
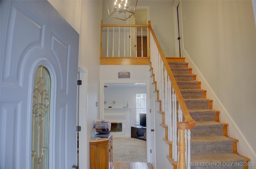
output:
<svg viewBox="0 0 256 169"><path fill-rule="evenodd" d="M44 66L35 72L32 112L32 169L48 169L50 74Z"/></svg>

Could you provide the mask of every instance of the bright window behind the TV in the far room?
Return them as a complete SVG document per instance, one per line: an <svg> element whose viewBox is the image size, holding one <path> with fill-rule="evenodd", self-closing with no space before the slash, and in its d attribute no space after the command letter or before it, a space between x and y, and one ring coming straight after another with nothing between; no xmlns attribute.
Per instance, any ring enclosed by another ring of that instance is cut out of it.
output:
<svg viewBox="0 0 256 169"><path fill-rule="evenodd" d="M136 123L140 124L140 113L146 113L146 94L136 94Z"/></svg>

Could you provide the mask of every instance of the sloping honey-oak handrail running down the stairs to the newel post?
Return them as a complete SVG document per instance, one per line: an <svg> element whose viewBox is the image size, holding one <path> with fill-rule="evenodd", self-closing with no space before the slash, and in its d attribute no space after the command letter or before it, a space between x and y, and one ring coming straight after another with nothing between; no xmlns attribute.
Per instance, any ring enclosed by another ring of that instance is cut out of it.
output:
<svg viewBox="0 0 256 169"><path fill-rule="evenodd" d="M150 21L148 21L148 22L150 23ZM154 38L154 41L155 41L156 46L158 48L159 54L162 58L164 66L166 68L167 74L168 74L168 76L169 76L169 78L172 82L172 86L173 86L174 91L176 93L178 102L180 104L180 108L182 109L183 117L184 117L185 121L188 122L188 123L185 123L185 124L182 123L182 125L181 124L179 125L179 122L178 122L178 128L179 128L179 126L180 127L182 126L182 128L185 127L185 129L193 129L196 125L196 121L194 121L194 119L192 119L192 117L190 116L190 113L188 112L188 108L186 106L186 103L185 103L185 101L182 97L182 94L180 93L180 89L178 87L178 84L177 84L177 82L176 82L176 80L175 80L175 78L172 74L171 68L170 68L170 66L169 66L169 64L166 60L166 57L164 56L164 52L162 51L162 48L161 48L161 46L160 46L160 44L159 44L159 42L156 38L156 34L154 33L154 31L151 27L151 24L149 25L149 30L150 30L153 38Z"/></svg>

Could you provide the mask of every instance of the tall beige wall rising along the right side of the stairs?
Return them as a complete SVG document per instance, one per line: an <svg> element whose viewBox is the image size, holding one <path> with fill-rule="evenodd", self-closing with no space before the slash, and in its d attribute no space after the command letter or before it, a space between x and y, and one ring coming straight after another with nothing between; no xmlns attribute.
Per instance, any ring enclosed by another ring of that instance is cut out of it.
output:
<svg viewBox="0 0 256 169"><path fill-rule="evenodd" d="M256 29L252 1L182 0L184 56L220 110L238 152L256 162ZM250 167L255 168L255 167Z"/></svg>

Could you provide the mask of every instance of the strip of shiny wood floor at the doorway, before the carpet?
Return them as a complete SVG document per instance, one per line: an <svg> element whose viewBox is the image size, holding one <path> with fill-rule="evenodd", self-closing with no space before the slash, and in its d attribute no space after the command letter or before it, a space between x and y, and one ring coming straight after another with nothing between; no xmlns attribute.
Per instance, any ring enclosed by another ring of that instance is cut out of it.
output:
<svg viewBox="0 0 256 169"><path fill-rule="evenodd" d="M114 162L114 169L153 169L150 163L146 162Z"/></svg>

